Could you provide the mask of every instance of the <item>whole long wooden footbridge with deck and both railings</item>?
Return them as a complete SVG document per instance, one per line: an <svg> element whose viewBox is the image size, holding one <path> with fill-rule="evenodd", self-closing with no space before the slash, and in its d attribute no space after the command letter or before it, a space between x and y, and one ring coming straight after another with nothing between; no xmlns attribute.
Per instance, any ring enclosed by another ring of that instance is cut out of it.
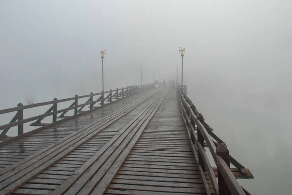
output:
<svg viewBox="0 0 292 195"><path fill-rule="evenodd" d="M25 118L39 106L50 108ZM204 122L186 86L130 86L0 110L9 113L0 126L0 195L249 195L237 178L253 175Z"/></svg>

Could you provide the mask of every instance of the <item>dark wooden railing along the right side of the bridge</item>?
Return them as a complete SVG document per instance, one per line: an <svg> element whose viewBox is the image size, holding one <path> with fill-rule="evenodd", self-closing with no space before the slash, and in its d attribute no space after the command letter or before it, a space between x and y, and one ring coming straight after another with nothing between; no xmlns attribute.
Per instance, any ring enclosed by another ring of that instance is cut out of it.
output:
<svg viewBox="0 0 292 195"><path fill-rule="evenodd" d="M253 175L248 169L229 155L229 150L227 149L226 144L212 132L212 128L204 122L204 118L201 113L198 112L186 94L182 93L180 87L177 88L177 91L183 118L189 130L191 145L195 158L199 163L201 177L203 179L203 184L207 194L211 193L206 181L206 173L209 175L216 195L250 195L249 192L239 185L237 178L230 169L230 163L232 163L242 175L245 175L246 178L254 178ZM215 142L212 138L217 142ZM205 142L210 150L213 160L217 165L218 182L214 173L214 168L212 168L210 160L208 159L204 149ZM198 148L198 154L195 147Z"/></svg>

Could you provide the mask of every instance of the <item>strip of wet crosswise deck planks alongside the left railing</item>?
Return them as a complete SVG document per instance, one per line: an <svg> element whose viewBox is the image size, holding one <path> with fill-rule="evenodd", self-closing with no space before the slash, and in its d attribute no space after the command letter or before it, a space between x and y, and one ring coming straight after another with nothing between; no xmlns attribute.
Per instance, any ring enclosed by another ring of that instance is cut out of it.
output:
<svg viewBox="0 0 292 195"><path fill-rule="evenodd" d="M93 121L102 118L117 109L127 106L131 102L145 96L149 91L129 96L114 104L99 108L88 114L84 114L65 121L61 124L43 129L35 134L21 138L15 142L0 146L0 169L12 165L25 157L42 150L43 148L59 141L62 138L78 131Z"/></svg>

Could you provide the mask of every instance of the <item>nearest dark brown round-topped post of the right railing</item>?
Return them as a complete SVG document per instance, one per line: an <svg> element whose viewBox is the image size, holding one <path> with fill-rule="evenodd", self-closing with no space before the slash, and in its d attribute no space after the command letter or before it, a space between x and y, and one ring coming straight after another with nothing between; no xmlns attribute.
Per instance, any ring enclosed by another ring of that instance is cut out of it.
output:
<svg viewBox="0 0 292 195"><path fill-rule="evenodd" d="M222 159L226 162L226 164L230 168L229 150L227 149L227 147L223 143L220 143L219 146L216 148L216 154L218 156L221 156ZM217 167L217 169L218 169L219 195L231 195L231 192L230 192L227 184L224 181L224 178L220 172L219 167Z"/></svg>

